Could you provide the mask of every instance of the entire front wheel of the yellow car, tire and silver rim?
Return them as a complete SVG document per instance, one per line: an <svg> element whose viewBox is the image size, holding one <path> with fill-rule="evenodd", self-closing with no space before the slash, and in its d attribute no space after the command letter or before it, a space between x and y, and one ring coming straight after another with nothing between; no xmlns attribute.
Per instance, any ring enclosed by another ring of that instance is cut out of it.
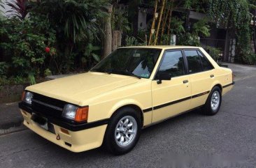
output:
<svg viewBox="0 0 256 168"><path fill-rule="evenodd" d="M115 155L128 153L138 142L141 134L141 119L138 112L125 107L111 118L104 139L108 151Z"/></svg>

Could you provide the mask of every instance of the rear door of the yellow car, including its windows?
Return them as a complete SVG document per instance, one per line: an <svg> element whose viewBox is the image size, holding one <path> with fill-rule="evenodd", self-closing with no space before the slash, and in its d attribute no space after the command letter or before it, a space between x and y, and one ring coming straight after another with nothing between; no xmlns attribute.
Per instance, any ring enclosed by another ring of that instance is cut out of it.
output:
<svg viewBox="0 0 256 168"><path fill-rule="evenodd" d="M214 81L214 70L211 63L198 49L184 51L187 69L190 74L192 99L190 109L204 105Z"/></svg>

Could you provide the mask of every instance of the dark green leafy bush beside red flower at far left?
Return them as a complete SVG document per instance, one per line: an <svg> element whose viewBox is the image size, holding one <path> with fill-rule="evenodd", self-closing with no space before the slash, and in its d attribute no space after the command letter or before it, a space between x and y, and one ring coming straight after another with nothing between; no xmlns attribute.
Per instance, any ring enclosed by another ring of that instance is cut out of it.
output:
<svg viewBox="0 0 256 168"><path fill-rule="evenodd" d="M0 37L4 39L0 47L11 53L13 75L27 76L31 72L40 75L43 72L45 59L50 56L45 47L55 43L55 31L50 28L47 17L31 13L29 19L23 21L2 20Z"/></svg>

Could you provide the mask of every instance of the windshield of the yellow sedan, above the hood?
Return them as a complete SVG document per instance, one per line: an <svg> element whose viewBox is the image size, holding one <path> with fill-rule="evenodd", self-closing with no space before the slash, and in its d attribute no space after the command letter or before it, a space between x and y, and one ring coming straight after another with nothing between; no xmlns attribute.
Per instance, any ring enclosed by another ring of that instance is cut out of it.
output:
<svg viewBox="0 0 256 168"><path fill-rule="evenodd" d="M120 48L100 61L91 71L149 78L161 49Z"/></svg>

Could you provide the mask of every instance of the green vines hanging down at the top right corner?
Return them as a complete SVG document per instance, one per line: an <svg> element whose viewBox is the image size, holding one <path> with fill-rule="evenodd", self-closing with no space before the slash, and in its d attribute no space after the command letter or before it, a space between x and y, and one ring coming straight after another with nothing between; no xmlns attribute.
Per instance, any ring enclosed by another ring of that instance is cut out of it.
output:
<svg viewBox="0 0 256 168"><path fill-rule="evenodd" d="M247 0L209 0L208 15L211 20L224 25L237 38L236 61L246 63L250 51L250 10Z"/></svg>

